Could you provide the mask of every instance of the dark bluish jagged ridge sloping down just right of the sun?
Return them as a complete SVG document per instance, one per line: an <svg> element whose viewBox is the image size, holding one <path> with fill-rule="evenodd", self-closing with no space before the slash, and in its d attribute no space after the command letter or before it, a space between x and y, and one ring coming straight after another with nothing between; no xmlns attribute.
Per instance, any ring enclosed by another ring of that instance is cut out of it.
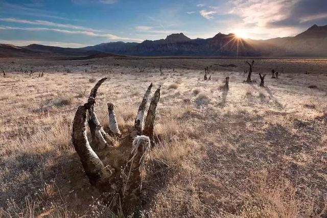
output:
<svg viewBox="0 0 327 218"><path fill-rule="evenodd" d="M135 56L260 56L260 52L246 40L237 38L235 34L222 33L208 39L190 39L179 33L166 39L142 43L110 42L83 49Z"/></svg>

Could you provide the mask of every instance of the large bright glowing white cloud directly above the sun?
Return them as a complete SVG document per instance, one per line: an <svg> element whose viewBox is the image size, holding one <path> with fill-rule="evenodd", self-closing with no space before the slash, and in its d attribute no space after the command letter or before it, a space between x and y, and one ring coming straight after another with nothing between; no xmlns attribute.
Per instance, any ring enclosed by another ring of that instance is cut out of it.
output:
<svg viewBox="0 0 327 218"><path fill-rule="evenodd" d="M228 14L241 18L231 23L228 30L242 30L253 39L268 39L297 34L299 27L273 26L291 17L292 9L300 0L232 0ZM313 17L303 18L312 19Z"/></svg>

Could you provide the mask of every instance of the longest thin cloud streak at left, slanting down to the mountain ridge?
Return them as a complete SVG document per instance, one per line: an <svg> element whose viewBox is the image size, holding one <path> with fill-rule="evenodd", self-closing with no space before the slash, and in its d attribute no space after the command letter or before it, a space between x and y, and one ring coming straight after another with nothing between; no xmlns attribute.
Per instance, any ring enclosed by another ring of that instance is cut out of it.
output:
<svg viewBox="0 0 327 218"><path fill-rule="evenodd" d="M62 29L51 29L51 28L20 28L20 27L9 27L9 26L0 26L0 30L54 31L54 32L60 32L66 34L82 34L86 36L103 37L109 40L143 41L142 39L121 37L113 34L99 34L91 31L71 31L71 30L62 30Z"/></svg>

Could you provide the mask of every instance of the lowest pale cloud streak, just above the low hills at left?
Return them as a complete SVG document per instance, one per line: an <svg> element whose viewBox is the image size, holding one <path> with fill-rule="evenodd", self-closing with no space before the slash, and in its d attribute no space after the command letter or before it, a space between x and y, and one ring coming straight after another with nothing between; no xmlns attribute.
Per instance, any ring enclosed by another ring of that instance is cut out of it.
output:
<svg viewBox="0 0 327 218"><path fill-rule="evenodd" d="M89 45L89 44L75 43L75 42L57 42L57 41L41 41L41 40L7 40L7 39L0 39L0 43L14 44L17 46L25 46L29 44L42 44L42 45L60 46L60 47L85 47Z"/></svg>

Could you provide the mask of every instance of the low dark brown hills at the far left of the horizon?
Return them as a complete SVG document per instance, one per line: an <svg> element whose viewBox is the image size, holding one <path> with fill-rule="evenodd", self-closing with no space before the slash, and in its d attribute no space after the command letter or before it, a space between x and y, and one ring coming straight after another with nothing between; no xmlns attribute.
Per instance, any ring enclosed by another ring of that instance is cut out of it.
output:
<svg viewBox="0 0 327 218"><path fill-rule="evenodd" d="M71 49L40 44L15 46L0 44L0 57L57 57L57 56L90 56L99 54L98 51Z"/></svg>

